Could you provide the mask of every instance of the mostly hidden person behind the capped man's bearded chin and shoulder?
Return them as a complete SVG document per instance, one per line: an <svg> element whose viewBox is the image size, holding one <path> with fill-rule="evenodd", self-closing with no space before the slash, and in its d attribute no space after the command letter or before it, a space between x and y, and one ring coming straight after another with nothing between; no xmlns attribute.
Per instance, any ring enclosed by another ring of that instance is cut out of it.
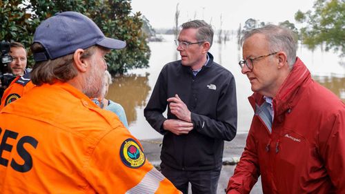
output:
<svg viewBox="0 0 345 194"><path fill-rule="evenodd" d="M106 99L108 94L109 86L112 84L112 78L108 70L104 72L104 86L101 95L98 98L92 99L92 101L97 104L100 108L110 110L112 113L115 113L119 117L120 121L128 128L128 122L126 118L126 113L121 104L118 104L110 99Z"/></svg>

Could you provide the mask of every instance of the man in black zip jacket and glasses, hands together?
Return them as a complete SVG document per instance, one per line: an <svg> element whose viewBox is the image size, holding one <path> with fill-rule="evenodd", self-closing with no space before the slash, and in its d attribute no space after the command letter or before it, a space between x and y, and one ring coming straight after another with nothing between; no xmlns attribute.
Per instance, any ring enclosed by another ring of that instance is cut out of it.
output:
<svg viewBox="0 0 345 194"><path fill-rule="evenodd" d="M188 183L193 193L217 193L224 140L237 130L235 78L208 52L213 29L205 21L182 24L175 42L181 60L161 70L144 116L164 135L163 175L183 193Z"/></svg>

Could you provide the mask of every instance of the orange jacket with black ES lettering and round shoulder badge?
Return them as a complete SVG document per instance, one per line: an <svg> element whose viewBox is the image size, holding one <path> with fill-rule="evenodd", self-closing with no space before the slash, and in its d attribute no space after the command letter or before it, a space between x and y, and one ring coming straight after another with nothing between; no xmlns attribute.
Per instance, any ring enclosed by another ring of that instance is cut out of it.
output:
<svg viewBox="0 0 345 194"><path fill-rule="evenodd" d="M143 129L144 130L144 129ZM0 112L0 193L180 193L108 110L66 83Z"/></svg>

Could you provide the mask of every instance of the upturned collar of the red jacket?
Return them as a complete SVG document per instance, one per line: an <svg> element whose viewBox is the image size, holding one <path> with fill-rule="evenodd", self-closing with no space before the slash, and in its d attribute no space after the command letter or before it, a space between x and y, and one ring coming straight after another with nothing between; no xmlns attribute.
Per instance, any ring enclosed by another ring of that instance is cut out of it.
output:
<svg viewBox="0 0 345 194"><path fill-rule="evenodd" d="M299 88L307 81L311 81L311 72L304 65L304 63L296 58L296 62L293 66L288 77L286 77L282 86L280 86L277 95L273 98L273 108L275 115L279 119L279 115L282 115L286 111L290 111L297 103L297 92ZM259 106L264 103L264 96L259 93L253 93L248 100L255 111L255 104Z"/></svg>

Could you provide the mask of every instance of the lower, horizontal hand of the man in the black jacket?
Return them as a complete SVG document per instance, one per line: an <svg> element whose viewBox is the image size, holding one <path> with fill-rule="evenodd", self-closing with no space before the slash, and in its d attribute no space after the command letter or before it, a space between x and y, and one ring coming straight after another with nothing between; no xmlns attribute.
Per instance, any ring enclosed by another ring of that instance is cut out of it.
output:
<svg viewBox="0 0 345 194"><path fill-rule="evenodd" d="M163 128L175 135L188 134L193 129L193 123L184 122L179 119L168 119L163 123Z"/></svg>

